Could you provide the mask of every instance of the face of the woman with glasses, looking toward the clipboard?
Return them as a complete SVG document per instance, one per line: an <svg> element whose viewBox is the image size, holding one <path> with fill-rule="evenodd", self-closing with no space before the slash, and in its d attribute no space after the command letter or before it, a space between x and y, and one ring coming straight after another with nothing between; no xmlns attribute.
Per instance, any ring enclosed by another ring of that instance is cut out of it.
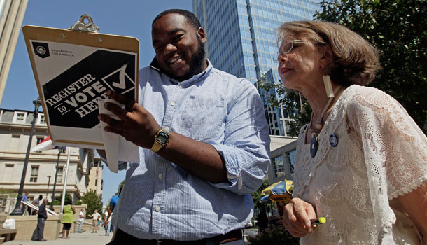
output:
<svg viewBox="0 0 427 245"><path fill-rule="evenodd" d="M292 42L293 48L289 50ZM288 52L285 53L286 51ZM314 85L314 81L321 79L323 75L321 57L318 46L307 38L283 39L279 48L277 67L283 86L301 91L307 86Z"/></svg>

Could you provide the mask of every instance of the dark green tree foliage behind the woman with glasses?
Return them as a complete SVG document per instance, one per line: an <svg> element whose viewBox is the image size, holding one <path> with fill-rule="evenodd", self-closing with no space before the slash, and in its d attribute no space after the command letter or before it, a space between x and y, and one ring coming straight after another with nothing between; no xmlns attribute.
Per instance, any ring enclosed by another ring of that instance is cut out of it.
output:
<svg viewBox="0 0 427 245"><path fill-rule="evenodd" d="M321 10L314 18L349 27L379 50L382 69L370 86L397 99L427 132L427 1L323 0L319 4ZM279 97L268 98L272 106L298 111L297 94L286 93L281 84L261 87L279 92ZM302 104L305 113L290 113L292 136L309 122L311 109L304 98Z"/></svg>

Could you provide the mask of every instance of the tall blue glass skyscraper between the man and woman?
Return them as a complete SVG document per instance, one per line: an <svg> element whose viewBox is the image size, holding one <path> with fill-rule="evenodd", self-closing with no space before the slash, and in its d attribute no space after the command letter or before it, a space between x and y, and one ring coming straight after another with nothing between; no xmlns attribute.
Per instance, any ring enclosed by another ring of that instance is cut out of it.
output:
<svg viewBox="0 0 427 245"><path fill-rule="evenodd" d="M207 34L212 64L258 85L280 83L274 57L277 32L283 22L312 20L319 0L193 0L193 12ZM288 136L286 109L273 109L265 99L270 134Z"/></svg>

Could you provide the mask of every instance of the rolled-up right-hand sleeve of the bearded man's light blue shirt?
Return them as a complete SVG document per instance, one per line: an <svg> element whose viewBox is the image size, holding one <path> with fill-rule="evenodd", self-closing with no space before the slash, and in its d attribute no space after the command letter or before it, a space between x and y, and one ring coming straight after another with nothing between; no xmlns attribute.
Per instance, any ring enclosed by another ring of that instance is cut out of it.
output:
<svg viewBox="0 0 427 245"><path fill-rule="evenodd" d="M269 165L269 131L262 102L255 86L247 80L228 105L223 144L213 144L223 157L228 183L212 183L237 194L253 193L261 186Z"/></svg>

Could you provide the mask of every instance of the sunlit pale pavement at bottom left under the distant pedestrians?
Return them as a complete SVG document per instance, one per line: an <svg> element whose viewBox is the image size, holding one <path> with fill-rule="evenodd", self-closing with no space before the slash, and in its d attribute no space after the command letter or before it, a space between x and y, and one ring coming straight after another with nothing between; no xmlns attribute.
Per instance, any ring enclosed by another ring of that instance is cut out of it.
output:
<svg viewBox="0 0 427 245"><path fill-rule="evenodd" d="M31 231L32 232L32 231ZM105 231L99 229L97 233L91 233L89 231L83 233L70 233L70 238L62 239L62 235L56 240L48 241L7 241L3 242L3 245L105 245L111 241L113 234L109 236L105 235Z"/></svg>

